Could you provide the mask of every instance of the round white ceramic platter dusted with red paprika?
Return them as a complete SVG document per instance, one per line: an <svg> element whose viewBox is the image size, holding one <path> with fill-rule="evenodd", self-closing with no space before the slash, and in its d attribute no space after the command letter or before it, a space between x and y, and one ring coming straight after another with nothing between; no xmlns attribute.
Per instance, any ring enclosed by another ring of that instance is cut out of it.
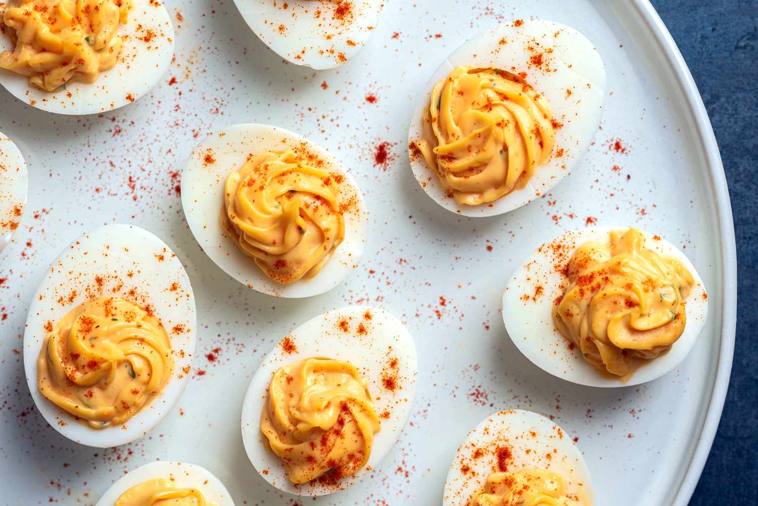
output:
<svg viewBox="0 0 758 506"><path fill-rule="evenodd" d="M0 462L12 463L0 473L0 504L94 504L125 471L156 459L202 465L236 504L440 504L466 433L508 408L553 416L579 438L598 504L688 503L724 401L736 307L728 193L700 96L644 0L484 3L387 2L359 55L315 72L283 63L233 2L209 10L205 0L185 0L169 8L176 60L139 105L68 118L0 91L0 131L30 168L27 215L0 256ZM453 215L423 193L409 168L415 97L472 34L532 15L576 27L597 45L609 90L602 130L543 199L493 218ZM183 162L211 130L239 123L277 124L311 138L361 187L371 219L365 256L329 293L283 300L250 291L218 269L189 231L177 192ZM384 162L376 159L381 149ZM82 231L112 222L147 228L177 253L193 284L199 329L192 379L174 411L146 438L102 451L68 441L42 419L19 352L27 308L52 259ZM708 322L681 366L654 382L572 385L512 344L500 315L503 287L522 259L563 231L622 224L654 230L688 254L708 287ZM384 307L414 336L415 409L399 443L360 486L297 501L249 464L243 398L283 335L353 303Z"/></svg>

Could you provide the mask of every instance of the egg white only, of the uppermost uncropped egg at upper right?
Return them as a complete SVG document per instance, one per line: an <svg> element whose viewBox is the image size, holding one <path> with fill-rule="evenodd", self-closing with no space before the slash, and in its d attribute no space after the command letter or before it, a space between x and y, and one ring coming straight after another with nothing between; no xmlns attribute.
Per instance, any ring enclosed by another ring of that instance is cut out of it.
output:
<svg viewBox="0 0 758 506"><path fill-rule="evenodd" d="M429 106L432 88L453 69L466 65L497 68L513 74L525 72L525 80L547 99L553 117L563 125L556 130L552 158L536 169L525 187L479 206L460 206L452 196L446 196L437 174L413 147L423 138L422 116ZM603 61L592 42L581 33L541 19L500 24L456 49L421 90L408 139L413 174L435 202L462 215L500 215L525 206L550 191L578 165L600 125L605 94ZM557 156L558 153L561 156Z"/></svg>

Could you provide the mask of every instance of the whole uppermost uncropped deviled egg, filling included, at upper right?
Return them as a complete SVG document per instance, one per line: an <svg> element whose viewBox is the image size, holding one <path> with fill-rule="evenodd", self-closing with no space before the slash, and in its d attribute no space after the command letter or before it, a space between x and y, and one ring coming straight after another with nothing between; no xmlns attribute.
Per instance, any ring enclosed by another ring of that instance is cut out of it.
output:
<svg viewBox="0 0 758 506"><path fill-rule="evenodd" d="M418 97L413 174L462 215L524 206L578 165L605 88L603 61L577 30L540 19L500 24L456 49Z"/></svg>

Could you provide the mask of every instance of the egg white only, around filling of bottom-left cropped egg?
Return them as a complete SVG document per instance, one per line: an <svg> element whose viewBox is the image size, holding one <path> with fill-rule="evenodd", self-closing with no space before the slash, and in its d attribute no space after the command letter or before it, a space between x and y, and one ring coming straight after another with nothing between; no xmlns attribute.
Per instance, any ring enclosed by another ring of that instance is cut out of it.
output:
<svg viewBox="0 0 758 506"><path fill-rule="evenodd" d="M197 464L158 460L137 467L121 476L102 495L95 506L113 506L121 494L151 479L172 479L177 489L198 489L205 498L205 504L234 506L229 491L213 473Z"/></svg>

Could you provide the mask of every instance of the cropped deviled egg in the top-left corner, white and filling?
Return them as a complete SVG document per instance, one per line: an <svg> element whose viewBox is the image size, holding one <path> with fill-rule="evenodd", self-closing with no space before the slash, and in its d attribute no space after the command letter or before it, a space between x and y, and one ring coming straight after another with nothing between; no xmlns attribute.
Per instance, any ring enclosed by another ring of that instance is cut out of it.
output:
<svg viewBox="0 0 758 506"><path fill-rule="evenodd" d="M42 109L43 111L53 112L61 115L91 115L108 112L116 108L129 105L141 96L147 93L158 84L161 77L168 71L171 64L171 58L174 57L174 28L171 25L171 17L168 14L162 2L156 0L130 0L131 8L124 14L121 20L113 18L116 16L111 12L112 8L127 7L126 2L111 2L111 0L102 0L108 2L107 6L95 5L94 0L89 2L83 11L77 11L77 2L53 2L56 5L52 7L48 4L49 0L33 0L39 2L39 8L32 8L27 15L20 13L14 15L15 21L9 19L6 15L6 21L19 24L19 29L26 29L30 22L38 22L39 30L46 33L49 43L55 46L72 45L67 37L77 35L83 40L74 41L76 44L86 44L87 58L108 58L111 62L104 64L89 64L78 58L60 62L50 62L51 70L41 73L35 73L36 77L27 77L8 68L0 68L0 84L5 87L12 95L22 102ZM6 2L5 9L16 8L18 0ZM112 4L112 5L111 5ZM121 6L121 7L115 7ZM106 9L105 7L108 7ZM57 9L57 17L46 17L45 12ZM2 13L0 9L0 13ZM101 15L100 13L108 14ZM74 28L82 27L83 33L78 33L71 27L67 26L69 19L86 18L85 23L74 23ZM126 20L124 23L123 21ZM49 23L52 22L52 25ZM22 24L23 23L23 24ZM110 27L114 25L115 33L111 30L99 30L97 27ZM0 53L5 53L8 65L19 67L21 72L30 71L26 64L20 64L18 55L14 54L14 43L11 41L11 27L5 27L5 33L0 36ZM26 33L25 36L34 36L34 33ZM120 40L119 40L120 38ZM19 42L23 48L23 42ZM30 46L27 44L27 46ZM119 49L120 48L120 49ZM23 49L26 54L29 49ZM113 54L116 53L113 59ZM52 55L53 53L49 53ZM64 58L64 52L60 53L60 58ZM32 58L34 55L32 56ZM0 62L3 61L0 55ZM108 70L93 72L92 68L103 67ZM39 68L35 64L32 68ZM58 85L59 82L68 77L54 76L53 71L62 68L67 74L74 73L74 77ZM81 72L81 74L77 74ZM35 79L36 85L30 83L30 79ZM94 80L93 82L89 82ZM42 89L48 88L48 89Z"/></svg>

